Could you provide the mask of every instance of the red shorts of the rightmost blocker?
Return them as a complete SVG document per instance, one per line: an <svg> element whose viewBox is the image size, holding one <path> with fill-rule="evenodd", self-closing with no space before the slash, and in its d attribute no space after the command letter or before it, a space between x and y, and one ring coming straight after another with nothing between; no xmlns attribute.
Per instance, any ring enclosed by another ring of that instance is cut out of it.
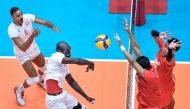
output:
<svg viewBox="0 0 190 109"><path fill-rule="evenodd" d="M170 91L162 93L161 102L162 107L167 107L172 99L172 96L174 94L175 88L173 88Z"/></svg>

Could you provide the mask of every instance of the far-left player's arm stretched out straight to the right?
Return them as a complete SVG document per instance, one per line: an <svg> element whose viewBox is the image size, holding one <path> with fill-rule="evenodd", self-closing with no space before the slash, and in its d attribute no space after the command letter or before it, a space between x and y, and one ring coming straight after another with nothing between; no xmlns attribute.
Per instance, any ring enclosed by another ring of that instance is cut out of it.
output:
<svg viewBox="0 0 190 109"><path fill-rule="evenodd" d="M49 28L51 28L51 29L53 29L54 31L56 31L56 32L60 32L60 29L59 28L57 28L57 27L55 27L51 22L49 22L49 21L46 21L46 20L43 20L43 19L40 19L40 18L35 18L35 20L34 20L34 22L35 23L38 23L38 24L41 24L41 25L45 25L45 26L47 26L47 27L49 27Z"/></svg>

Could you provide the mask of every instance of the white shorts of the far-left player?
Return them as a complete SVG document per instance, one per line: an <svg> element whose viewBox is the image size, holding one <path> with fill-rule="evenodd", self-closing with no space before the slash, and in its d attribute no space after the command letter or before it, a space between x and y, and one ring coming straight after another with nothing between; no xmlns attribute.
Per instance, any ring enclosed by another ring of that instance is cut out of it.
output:
<svg viewBox="0 0 190 109"><path fill-rule="evenodd" d="M28 60L35 59L40 54L40 49L38 46L36 46L32 51L27 53L18 53L15 54L16 58L21 62L21 64L24 64Z"/></svg>

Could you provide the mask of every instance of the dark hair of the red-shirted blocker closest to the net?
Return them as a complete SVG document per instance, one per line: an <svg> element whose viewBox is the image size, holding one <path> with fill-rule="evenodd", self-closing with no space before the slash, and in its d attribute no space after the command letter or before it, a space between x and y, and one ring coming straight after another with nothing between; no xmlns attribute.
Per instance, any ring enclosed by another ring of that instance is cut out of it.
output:
<svg viewBox="0 0 190 109"><path fill-rule="evenodd" d="M150 60L146 56L140 56L136 59L136 61L143 69L149 70L151 68Z"/></svg>

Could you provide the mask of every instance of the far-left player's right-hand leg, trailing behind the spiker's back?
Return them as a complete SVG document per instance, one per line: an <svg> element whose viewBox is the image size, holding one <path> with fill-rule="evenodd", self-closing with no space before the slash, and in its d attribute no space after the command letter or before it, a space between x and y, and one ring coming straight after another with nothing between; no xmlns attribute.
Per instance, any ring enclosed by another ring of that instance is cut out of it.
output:
<svg viewBox="0 0 190 109"><path fill-rule="evenodd" d="M37 55L33 60L32 60L33 63L35 63L37 66L38 66L38 73L39 73L39 76L40 76L40 82L39 82L39 85L45 89L45 86L44 86L44 72L46 70L46 67L45 67L45 58L43 56L42 53L40 53L39 55Z"/></svg>

